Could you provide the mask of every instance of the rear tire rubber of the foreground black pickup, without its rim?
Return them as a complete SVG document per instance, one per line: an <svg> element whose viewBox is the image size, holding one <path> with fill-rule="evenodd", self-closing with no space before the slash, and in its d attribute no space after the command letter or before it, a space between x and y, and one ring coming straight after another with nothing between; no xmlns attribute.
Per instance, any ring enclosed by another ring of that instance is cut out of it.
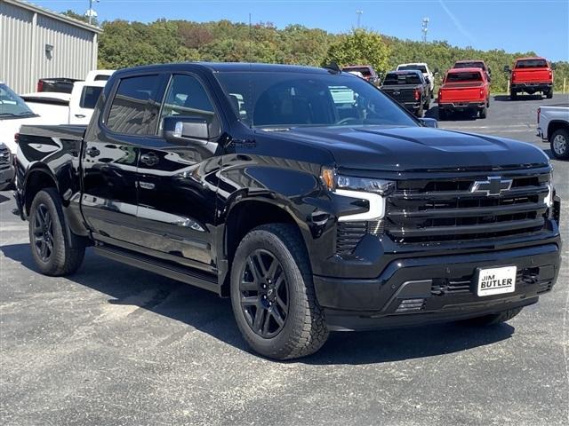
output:
<svg viewBox="0 0 569 426"><path fill-rule="evenodd" d="M42 259L35 245L35 217L38 209L42 207L51 217L52 250L47 259ZM81 237L66 230L63 209L61 208L60 194L55 188L45 188L32 201L29 209L29 242L32 256L40 272L44 275L59 277L68 275L81 266L85 254L85 245ZM73 248L70 247L67 234L72 239Z"/></svg>

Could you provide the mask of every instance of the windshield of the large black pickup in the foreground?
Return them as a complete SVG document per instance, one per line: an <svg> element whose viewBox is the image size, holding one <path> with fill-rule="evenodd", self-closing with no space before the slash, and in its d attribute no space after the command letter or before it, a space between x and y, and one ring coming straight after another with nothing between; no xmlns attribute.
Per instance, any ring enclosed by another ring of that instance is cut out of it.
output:
<svg viewBox="0 0 569 426"><path fill-rule="evenodd" d="M355 75L221 72L217 78L236 114L252 127L419 125Z"/></svg>

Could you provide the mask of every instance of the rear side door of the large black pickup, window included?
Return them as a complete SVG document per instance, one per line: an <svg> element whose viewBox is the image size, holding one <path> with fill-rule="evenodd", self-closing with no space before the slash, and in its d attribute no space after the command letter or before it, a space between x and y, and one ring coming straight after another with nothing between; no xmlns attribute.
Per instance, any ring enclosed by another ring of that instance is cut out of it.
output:
<svg viewBox="0 0 569 426"><path fill-rule="evenodd" d="M144 246L137 229L140 146L156 139L166 75L128 75L114 82L105 110L84 138L82 209L97 240Z"/></svg>

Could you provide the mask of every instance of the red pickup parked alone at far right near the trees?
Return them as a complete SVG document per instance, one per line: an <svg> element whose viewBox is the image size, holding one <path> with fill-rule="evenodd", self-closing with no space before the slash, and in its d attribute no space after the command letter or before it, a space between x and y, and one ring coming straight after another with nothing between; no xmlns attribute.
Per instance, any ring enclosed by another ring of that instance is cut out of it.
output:
<svg viewBox="0 0 569 426"><path fill-rule="evenodd" d="M513 69L506 66L504 70L510 73L509 99L517 99L517 93L524 91L530 95L541 91L548 99L553 98L553 70L547 59L516 59Z"/></svg>

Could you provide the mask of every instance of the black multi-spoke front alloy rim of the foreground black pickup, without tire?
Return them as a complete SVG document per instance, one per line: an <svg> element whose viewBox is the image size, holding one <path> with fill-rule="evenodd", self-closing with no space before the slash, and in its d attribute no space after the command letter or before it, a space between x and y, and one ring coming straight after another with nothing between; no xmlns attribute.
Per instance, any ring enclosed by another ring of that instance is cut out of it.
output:
<svg viewBox="0 0 569 426"><path fill-rule="evenodd" d="M282 264L268 250L258 248L246 258L239 294L244 318L263 338L274 337L288 316L289 289Z"/></svg>

